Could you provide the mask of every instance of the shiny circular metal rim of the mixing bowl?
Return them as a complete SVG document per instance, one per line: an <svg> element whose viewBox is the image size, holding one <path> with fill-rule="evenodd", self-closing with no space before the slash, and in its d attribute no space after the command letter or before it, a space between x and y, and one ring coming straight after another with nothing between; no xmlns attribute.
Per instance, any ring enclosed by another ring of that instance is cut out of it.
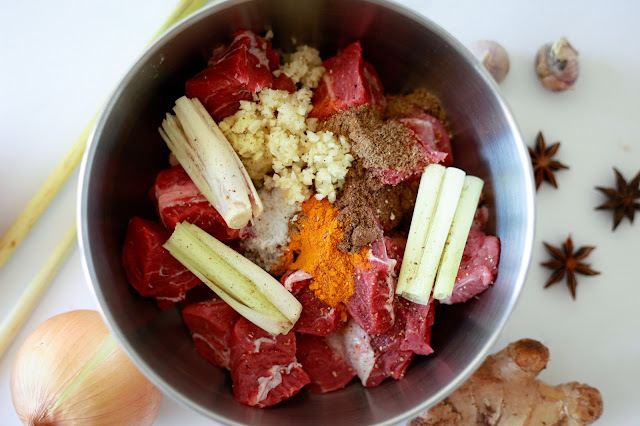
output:
<svg viewBox="0 0 640 426"><path fill-rule="evenodd" d="M200 10L194 12L192 15L183 19L182 21L176 23L169 29L167 29L157 40L147 46L144 51L138 55L138 57L134 60L133 64L129 67L126 74L121 78L118 82L115 89L111 92L108 97L108 101L105 103L104 107L100 111L93 130L89 135L87 148L85 150L85 154L83 156L83 160L80 167L80 177L78 181L78 192L77 192L77 203L76 203L76 217L77 217L77 232L78 232L78 244L79 251L82 263L82 269L84 271L84 275L87 279L87 285L90 288L91 293L94 295L95 299L98 302L99 311L102 315L107 327L111 331L111 333L115 336L118 344L122 348L122 350L129 356L132 362L136 365L136 367L156 386L158 386L165 395L169 395L172 399L178 401L185 407L188 407L192 411L195 411L201 415L204 415L207 418L213 419L222 424L229 425L242 425L243 423L239 423L233 421L229 418L226 418L223 415L218 414L217 412L213 412L211 410L202 407L184 395L182 395L179 391L174 389L174 387L165 381L161 376L156 374L156 372L141 358L138 356L137 351L126 339L124 333L121 329L116 326L116 321L111 312L106 309L106 302L104 300L103 294L97 289L97 283L99 282L99 278L95 272L95 267L93 264L93 260L90 253L91 243L89 241L89 232L88 232L88 223L87 223L87 205L90 202L90 196L88 193L89 186L89 174L87 173L89 167L92 165L93 160L95 158L95 153L98 145L98 140L102 133L104 132L104 127L108 117L110 116L116 100L123 93L125 86L128 84L130 79L140 72L142 69L142 65L153 55L157 53L157 50L160 46L167 43L170 39L174 38L177 34L182 31L185 31L188 27L199 22L205 18L207 18L211 14L215 14L220 10L224 10L226 8L234 7L236 5L242 3L251 3L253 0L223 0L219 2L211 3ZM505 324L513 314L513 310L520 298L520 294L522 293L522 289L524 287L525 279L531 265L531 257L533 252L533 242L534 242L534 231L535 231L535 190L534 190L534 181L533 181L533 171L531 167L531 162L529 160L529 154L526 150L526 146L524 144L519 126L514 118L514 115L509 107L508 103L504 99L501 94L500 88L498 84L491 77L489 72L485 69L485 67L467 50L467 48L459 42L456 38L450 35L447 31L441 28L438 24L427 18L426 16L418 13L410 9L407 6L398 4L392 0L362 0L368 3L371 3L376 6L381 6L383 8L390 9L391 11L403 15L404 17L411 19L417 22L419 25L429 28L431 31L436 33L438 37L444 39L447 43L449 43L456 51L458 55L463 56L468 62L474 64L475 71L478 72L481 78L484 80L485 84L489 85L493 92L496 94L496 98L499 101L499 109L502 111L508 126L513 131L513 137L516 140L516 150L518 154L518 160L525 167L527 173L525 173L525 203L526 203L526 211L529 213L526 220L526 230L524 233L524 250L523 250L523 261L520 267L519 273L515 279L514 290L510 295L510 298L507 303L507 307L505 310L505 314L502 315L502 318L497 324L497 327L491 332L491 335L486 339L484 344L481 345L478 354L471 360L471 362L456 376L455 380L449 383L447 386L441 388L432 398L432 400L436 400L436 402L432 402L433 405L437 404L437 402L444 399L446 396L451 394L457 387L462 385L471 374L480 366L482 361L489 355L489 351L494 347L496 341L500 337L502 331L504 330ZM411 410L407 410L402 414L399 414L393 418L387 419L383 422L378 423L379 425L394 425L396 423L407 420L411 417L414 417L422 412L424 412L429 404L429 401L425 400L423 403L417 405Z"/></svg>

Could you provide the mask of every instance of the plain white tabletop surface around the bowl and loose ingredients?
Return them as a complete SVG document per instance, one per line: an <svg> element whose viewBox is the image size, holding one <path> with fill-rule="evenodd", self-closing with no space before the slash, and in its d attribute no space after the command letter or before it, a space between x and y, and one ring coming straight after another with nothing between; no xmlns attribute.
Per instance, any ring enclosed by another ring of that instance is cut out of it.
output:
<svg viewBox="0 0 640 426"><path fill-rule="evenodd" d="M541 340L551 361L541 377L600 389L602 425L640 424L640 218L611 231L594 186L614 185L612 167L631 179L640 170L640 3L631 1L402 1L464 44L495 39L511 56L501 85L532 145L538 130L562 141L559 189L537 195L533 262L520 302L495 350L523 337ZM2 2L0 12L0 233L71 146L177 0L31 0ZM580 51L575 90L538 84L538 47L567 36ZM77 172L0 271L0 315L15 303L75 217ZM640 213L640 212L639 212ZM542 241L571 233L597 277L579 278L577 300L563 283L543 290L549 271ZM0 359L0 424L19 424L9 391L15 355L28 334L52 315L97 308L77 248L14 343ZM164 398L157 425L211 424Z"/></svg>

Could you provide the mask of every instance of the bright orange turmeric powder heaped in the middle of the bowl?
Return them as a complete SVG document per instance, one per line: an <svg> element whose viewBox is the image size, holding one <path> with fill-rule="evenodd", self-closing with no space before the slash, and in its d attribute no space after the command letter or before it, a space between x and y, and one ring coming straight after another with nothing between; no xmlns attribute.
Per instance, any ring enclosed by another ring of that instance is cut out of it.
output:
<svg viewBox="0 0 640 426"><path fill-rule="evenodd" d="M291 236L284 256L284 268L311 274L309 288L332 307L346 303L353 294L354 266L364 263L368 253L367 248L351 254L338 250L344 236L338 213L326 199L311 197L302 203L298 232Z"/></svg>

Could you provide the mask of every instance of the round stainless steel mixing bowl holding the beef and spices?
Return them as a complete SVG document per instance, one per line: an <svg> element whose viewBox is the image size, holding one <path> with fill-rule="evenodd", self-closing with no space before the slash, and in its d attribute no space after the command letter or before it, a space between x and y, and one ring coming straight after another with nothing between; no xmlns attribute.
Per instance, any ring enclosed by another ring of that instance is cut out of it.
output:
<svg viewBox="0 0 640 426"><path fill-rule="evenodd" d="M490 232L502 241L497 282L477 300L441 306L435 354L418 357L403 380L365 389L353 382L327 395L301 392L269 409L236 403L228 374L194 350L177 309L160 312L138 296L120 265L134 215L154 218L147 191L168 167L157 128L184 82L213 47L239 28L272 29L324 57L361 40L388 93L424 86L450 117L456 165L486 182ZM131 68L100 116L82 167L78 223L87 276L116 338L135 364L184 405L229 424L393 424L432 406L481 363L520 294L533 239L534 191L528 154L491 77L433 22L381 0L232 0L173 28Z"/></svg>

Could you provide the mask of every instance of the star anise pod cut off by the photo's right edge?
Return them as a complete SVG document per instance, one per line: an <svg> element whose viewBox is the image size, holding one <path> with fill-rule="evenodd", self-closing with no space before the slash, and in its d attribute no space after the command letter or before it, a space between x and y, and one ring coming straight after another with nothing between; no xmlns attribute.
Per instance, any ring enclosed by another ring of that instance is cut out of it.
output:
<svg viewBox="0 0 640 426"><path fill-rule="evenodd" d="M625 216L629 218L629 222L633 223L636 210L640 210L640 202L636 201L640 200L640 171L628 183L618 169L614 167L613 171L616 173L616 189L596 186L598 191L609 197L609 201L596 207L596 210L614 211L613 230L615 230Z"/></svg>

